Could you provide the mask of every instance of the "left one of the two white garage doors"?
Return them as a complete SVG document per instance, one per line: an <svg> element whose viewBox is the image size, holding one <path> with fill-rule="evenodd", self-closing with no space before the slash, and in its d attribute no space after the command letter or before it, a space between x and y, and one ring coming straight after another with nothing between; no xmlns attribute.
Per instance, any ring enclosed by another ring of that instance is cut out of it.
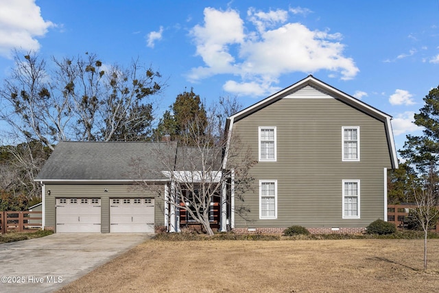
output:
<svg viewBox="0 0 439 293"><path fill-rule="evenodd" d="M99 198L57 198L56 232L101 232Z"/></svg>

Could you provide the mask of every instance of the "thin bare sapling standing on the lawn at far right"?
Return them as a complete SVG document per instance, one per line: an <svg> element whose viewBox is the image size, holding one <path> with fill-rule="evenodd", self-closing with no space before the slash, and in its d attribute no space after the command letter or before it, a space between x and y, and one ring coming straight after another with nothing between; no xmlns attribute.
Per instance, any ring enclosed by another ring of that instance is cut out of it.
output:
<svg viewBox="0 0 439 293"><path fill-rule="evenodd" d="M424 270L427 270L427 236L428 231L436 226L439 217L437 209L437 180L433 167L430 168L429 176L422 188L417 188L413 183L413 194L416 200L416 209L412 209L410 215L424 231ZM413 182L413 180L412 180Z"/></svg>

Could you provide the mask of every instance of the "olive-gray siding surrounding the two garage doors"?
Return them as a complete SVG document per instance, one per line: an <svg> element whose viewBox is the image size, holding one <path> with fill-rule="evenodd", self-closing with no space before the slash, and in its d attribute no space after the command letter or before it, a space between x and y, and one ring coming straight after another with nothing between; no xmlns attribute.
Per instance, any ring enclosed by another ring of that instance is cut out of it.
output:
<svg viewBox="0 0 439 293"><path fill-rule="evenodd" d="M130 185L46 184L45 191L45 226L56 227L56 198L100 198L101 233L110 232L110 198L155 198L153 191L136 190ZM155 198L154 224L163 226L164 222L163 200Z"/></svg>

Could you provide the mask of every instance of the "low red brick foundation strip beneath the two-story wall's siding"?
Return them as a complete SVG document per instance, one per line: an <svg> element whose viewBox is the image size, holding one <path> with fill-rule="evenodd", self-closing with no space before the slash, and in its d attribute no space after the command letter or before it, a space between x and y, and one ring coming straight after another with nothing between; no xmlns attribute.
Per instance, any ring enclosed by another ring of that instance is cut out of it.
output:
<svg viewBox="0 0 439 293"><path fill-rule="evenodd" d="M237 234L283 234L286 228L233 228L233 232ZM310 227L307 228L311 234L359 234L364 233L364 227Z"/></svg>

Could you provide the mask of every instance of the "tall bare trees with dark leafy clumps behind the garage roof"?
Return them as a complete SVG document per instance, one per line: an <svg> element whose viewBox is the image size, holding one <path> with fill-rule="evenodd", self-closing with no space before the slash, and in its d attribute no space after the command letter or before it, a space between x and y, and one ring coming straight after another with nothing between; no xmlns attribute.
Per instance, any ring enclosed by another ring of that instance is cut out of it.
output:
<svg viewBox="0 0 439 293"><path fill-rule="evenodd" d="M130 67L86 58L52 58L15 52L15 67L0 88L0 120L18 140L112 141L143 137L152 130L152 96L161 92L160 73L133 60Z"/></svg>

